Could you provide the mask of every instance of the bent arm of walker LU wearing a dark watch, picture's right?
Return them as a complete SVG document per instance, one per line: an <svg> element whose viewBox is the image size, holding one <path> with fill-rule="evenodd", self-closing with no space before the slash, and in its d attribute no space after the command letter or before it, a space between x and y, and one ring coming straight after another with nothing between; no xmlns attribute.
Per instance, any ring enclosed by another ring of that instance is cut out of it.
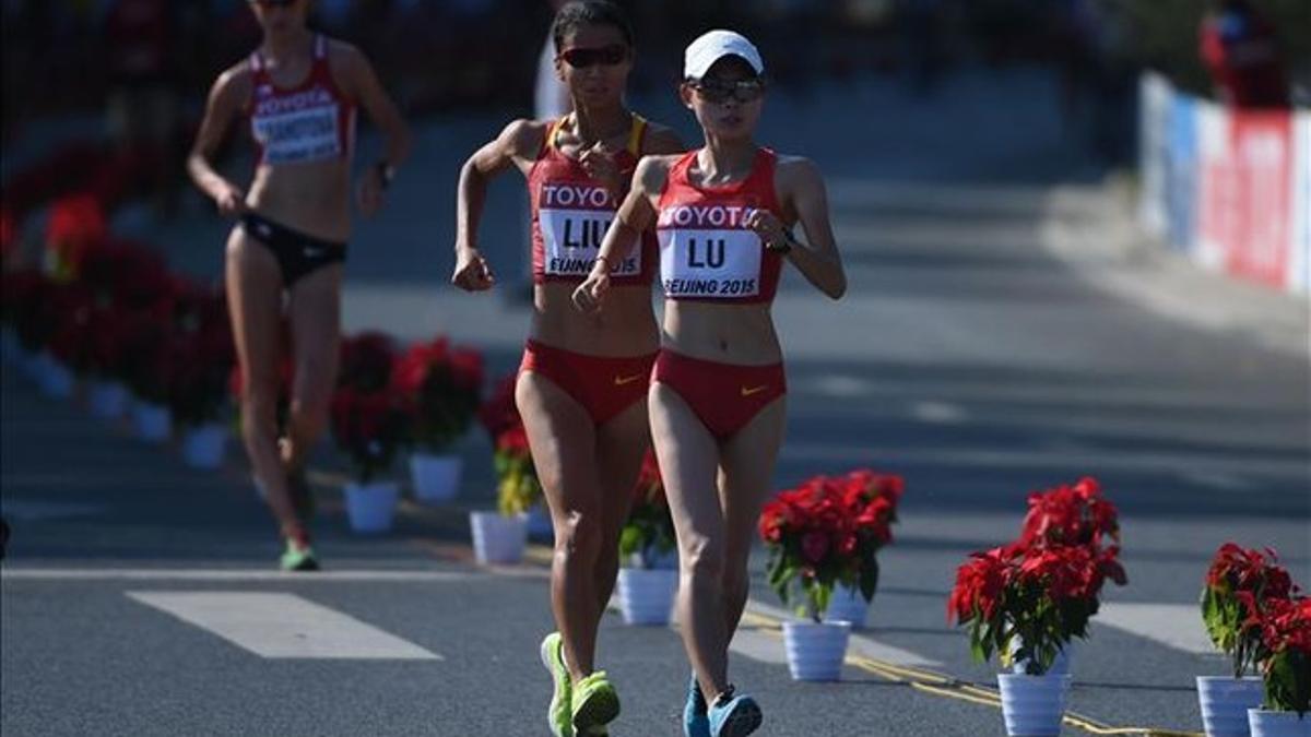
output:
<svg viewBox="0 0 1311 737"><path fill-rule="evenodd" d="M788 260L808 282L832 299L840 299L847 292L847 274L829 223L829 191L819 168L809 159L788 159L779 163L775 182L783 207L797 214L806 241L793 239L777 218L764 211L754 212L747 226L768 248L787 249Z"/></svg>

